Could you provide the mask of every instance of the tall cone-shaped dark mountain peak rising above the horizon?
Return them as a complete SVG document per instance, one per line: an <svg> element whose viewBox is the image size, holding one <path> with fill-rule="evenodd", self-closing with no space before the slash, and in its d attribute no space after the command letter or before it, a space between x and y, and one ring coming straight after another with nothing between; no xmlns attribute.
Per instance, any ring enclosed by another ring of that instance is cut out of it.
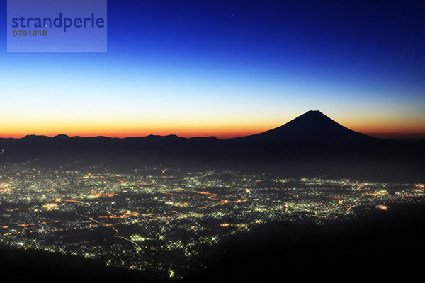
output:
<svg viewBox="0 0 425 283"><path fill-rule="evenodd" d="M317 110L308 111L285 125L267 132L236 139L251 142L277 142L297 146L365 145L385 141L354 132Z"/></svg>

